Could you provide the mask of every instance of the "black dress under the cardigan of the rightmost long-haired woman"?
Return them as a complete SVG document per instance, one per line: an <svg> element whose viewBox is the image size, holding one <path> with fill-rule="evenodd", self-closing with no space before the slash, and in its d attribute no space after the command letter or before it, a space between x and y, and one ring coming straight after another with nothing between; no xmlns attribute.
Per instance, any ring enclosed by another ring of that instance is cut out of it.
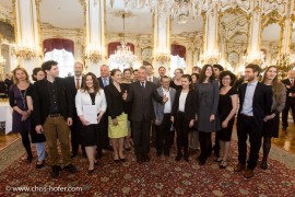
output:
<svg viewBox="0 0 295 197"><path fill-rule="evenodd" d="M272 85L268 85L272 90ZM280 115L274 116L274 118L268 120L267 123L263 121L263 137L267 138L279 138L279 130L280 130Z"/></svg>

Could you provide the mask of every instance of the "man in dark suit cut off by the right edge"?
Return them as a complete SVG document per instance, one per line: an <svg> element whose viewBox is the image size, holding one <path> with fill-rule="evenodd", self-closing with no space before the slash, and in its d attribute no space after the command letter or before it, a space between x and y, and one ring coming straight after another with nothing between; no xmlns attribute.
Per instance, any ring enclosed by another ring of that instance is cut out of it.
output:
<svg viewBox="0 0 295 197"><path fill-rule="evenodd" d="M294 81L294 78L295 78L295 71L290 70L287 72L287 79L282 80L282 83L285 84L286 90L287 90L285 108L283 109L283 113L282 113L283 130L286 130L288 127L287 116L288 116L290 108L292 109L293 123L295 124L295 81Z"/></svg>

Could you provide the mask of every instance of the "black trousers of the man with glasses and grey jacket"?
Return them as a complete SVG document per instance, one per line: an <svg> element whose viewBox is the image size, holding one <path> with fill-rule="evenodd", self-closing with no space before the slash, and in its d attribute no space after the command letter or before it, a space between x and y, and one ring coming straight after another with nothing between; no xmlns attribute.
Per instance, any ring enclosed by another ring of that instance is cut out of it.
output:
<svg viewBox="0 0 295 197"><path fill-rule="evenodd" d="M156 150L157 152L164 152L168 153L172 147L172 115L170 114L164 114L163 120L161 125L155 126L156 128Z"/></svg>

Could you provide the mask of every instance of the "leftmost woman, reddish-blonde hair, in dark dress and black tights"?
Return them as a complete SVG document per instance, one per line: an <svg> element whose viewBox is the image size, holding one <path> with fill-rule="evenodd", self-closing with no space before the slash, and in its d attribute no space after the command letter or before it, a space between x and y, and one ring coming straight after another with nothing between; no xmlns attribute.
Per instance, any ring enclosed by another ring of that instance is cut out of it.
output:
<svg viewBox="0 0 295 197"><path fill-rule="evenodd" d="M31 163L33 160L28 131L31 130L30 115L27 107L26 91L31 85L28 74L24 68L17 67L13 70L14 84L9 88L9 103L13 108L12 113L12 131L20 132L22 142L26 150L27 158L24 159Z"/></svg>

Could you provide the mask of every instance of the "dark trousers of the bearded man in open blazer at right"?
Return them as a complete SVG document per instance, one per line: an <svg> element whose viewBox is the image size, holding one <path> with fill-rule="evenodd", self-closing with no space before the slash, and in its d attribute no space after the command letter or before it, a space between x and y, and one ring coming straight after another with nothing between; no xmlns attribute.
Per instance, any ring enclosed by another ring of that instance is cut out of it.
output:
<svg viewBox="0 0 295 197"><path fill-rule="evenodd" d="M263 120L253 116L239 115L237 120L238 136L238 161L246 165L247 139L249 136L250 152L248 158L248 169L253 170L259 158L261 147Z"/></svg>

